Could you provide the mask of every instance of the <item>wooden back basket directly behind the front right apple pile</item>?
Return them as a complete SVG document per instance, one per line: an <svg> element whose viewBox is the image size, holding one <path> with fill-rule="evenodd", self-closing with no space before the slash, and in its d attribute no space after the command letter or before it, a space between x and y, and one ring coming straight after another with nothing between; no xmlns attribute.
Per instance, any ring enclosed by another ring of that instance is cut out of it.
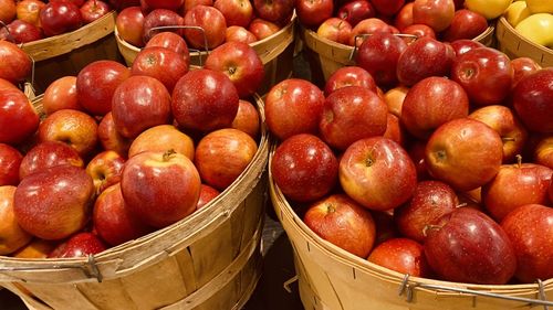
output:
<svg viewBox="0 0 553 310"><path fill-rule="evenodd" d="M493 46L493 30L494 26L490 25L473 40L487 46ZM303 26L300 26L300 32L306 46L303 51L310 63L313 82L316 85L324 87L325 82L336 70L355 64L353 46L326 40Z"/></svg>

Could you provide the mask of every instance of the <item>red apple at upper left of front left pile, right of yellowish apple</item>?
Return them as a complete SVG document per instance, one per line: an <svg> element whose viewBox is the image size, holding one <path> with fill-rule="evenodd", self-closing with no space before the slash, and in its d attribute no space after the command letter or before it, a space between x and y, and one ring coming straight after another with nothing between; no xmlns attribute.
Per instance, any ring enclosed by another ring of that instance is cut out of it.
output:
<svg viewBox="0 0 553 310"><path fill-rule="evenodd" d="M76 76L79 103L88 113L104 116L112 110L115 88L131 76L131 70L115 61L95 61Z"/></svg>

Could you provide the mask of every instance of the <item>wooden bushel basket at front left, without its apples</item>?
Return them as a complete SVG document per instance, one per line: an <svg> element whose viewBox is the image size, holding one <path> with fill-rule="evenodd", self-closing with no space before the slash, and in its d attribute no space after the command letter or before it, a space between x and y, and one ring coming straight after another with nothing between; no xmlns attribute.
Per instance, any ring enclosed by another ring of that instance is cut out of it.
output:
<svg viewBox="0 0 553 310"><path fill-rule="evenodd" d="M0 256L0 286L39 310L239 310L261 272L268 152L263 126L248 168L200 211L88 258Z"/></svg>

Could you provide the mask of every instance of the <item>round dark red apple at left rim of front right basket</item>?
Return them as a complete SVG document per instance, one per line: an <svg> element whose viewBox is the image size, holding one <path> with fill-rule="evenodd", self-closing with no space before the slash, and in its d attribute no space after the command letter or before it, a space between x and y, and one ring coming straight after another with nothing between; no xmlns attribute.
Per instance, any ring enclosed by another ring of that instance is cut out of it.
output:
<svg viewBox="0 0 553 310"><path fill-rule="evenodd" d="M337 183L338 161L320 138L300 133L276 148L270 169L286 199L310 202L328 194Z"/></svg>

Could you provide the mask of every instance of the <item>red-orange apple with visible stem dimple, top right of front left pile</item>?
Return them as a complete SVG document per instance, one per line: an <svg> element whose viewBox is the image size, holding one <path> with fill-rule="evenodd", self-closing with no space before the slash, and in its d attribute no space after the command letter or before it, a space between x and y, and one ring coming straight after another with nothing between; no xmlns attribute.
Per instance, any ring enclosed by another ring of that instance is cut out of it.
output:
<svg viewBox="0 0 553 310"><path fill-rule="evenodd" d="M227 42L216 47L209 53L205 68L225 73L240 98L255 93L264 77L263 63L255 50L240 42Z"/></svg>

